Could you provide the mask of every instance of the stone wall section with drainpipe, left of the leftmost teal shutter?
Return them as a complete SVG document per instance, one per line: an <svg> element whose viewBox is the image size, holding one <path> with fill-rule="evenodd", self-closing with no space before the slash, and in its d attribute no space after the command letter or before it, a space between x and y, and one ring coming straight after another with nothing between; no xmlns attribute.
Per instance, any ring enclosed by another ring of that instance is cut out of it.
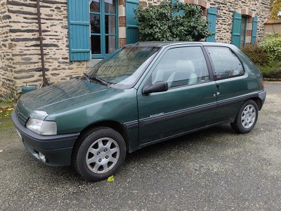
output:
<svg viewBox="0 0 281 211"><path fill-rule="evenodd" d="M46 77L51 83L81 75L86 62L70 62L67 1L40 1ZM42 82L36 1L1 0L0 94Z"/></svg>

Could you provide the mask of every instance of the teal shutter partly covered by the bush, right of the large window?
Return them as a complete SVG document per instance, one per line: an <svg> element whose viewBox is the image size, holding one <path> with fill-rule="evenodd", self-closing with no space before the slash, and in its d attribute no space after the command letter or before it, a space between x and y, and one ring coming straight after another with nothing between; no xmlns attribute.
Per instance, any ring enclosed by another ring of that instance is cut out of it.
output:
<svg viewBox="0 0 281 211"><path fill-rule="evenodd" d="M138 20L136 20L134 9L138 8L138 0L126 0L126 44L139 41Z"/></svg>

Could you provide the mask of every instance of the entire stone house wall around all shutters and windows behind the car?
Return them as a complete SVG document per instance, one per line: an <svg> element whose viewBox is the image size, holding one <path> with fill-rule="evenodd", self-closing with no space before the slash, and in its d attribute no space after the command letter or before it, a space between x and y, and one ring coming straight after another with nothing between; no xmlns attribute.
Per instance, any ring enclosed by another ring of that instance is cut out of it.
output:
<svg viewBox="0 0 281 211"><path fill-rule="evenodd" d="M140 5L157 5L162 0L141 0ZM207 8L217 8L216 41L231 42L233 12L247 15L248 21L259 17L257 40L263 37L269 15L268 0L181 0ZM125 0L119 0L119 46L126 44ZM67 29L67 0L41 0L46 77L51 83L77 77L98 60L70 62ZM41 56L35 0L1 0L0 3L0 97L18 95L20 87L42 82ZM249 24L249 26L251 26ZM251 28L247 29L247 35Z"/></svg>

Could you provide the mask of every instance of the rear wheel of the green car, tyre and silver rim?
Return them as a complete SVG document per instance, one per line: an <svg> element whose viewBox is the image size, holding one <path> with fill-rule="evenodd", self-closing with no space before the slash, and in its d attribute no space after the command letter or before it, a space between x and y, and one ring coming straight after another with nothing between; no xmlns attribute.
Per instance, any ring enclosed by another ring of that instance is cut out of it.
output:
<svg viewBox="0 0 281 211"><path fill-rule="evenodd" d="M237 117L231 127L240 134L251 132L258 120L259 108L253 100L245 101L237 113Z"/></svg>

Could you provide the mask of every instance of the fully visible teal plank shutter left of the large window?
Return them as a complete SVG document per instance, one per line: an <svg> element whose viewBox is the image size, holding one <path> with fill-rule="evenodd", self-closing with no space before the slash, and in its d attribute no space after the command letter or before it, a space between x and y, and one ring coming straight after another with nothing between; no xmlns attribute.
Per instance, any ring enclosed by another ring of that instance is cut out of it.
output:
<svg viewBox="0 0 281 211"><path fill-rule="evenodd" d="M70 60L90 60L89 0L67 0Z"/></svg>

